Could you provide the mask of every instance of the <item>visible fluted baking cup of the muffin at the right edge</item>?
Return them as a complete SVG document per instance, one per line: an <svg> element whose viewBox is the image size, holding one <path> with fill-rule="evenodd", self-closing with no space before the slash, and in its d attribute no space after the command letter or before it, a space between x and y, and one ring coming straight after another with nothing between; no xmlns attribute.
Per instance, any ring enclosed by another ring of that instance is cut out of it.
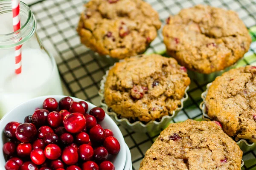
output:
<svg viewBox="0 0 256 170"><path fill-rule="evenodd" d="M212 83L207 84L207 89L206 89L206 91L204 91L204 92L201 94L201 98L203 99L203 102L201 102L200 108L201 108L201 110L202 110L203 119L204 119L204 120L212 120L212 119L210 119L210 117L207 115L207 108L206 108L206 105L205 105L205 99L206 99L206 96L207 96L209 87L210 87L211 85L212 85ZM249 151L249 150L255 150L255 149L256 149L256 143L247 142L247 140L245 140L245 139L239 139L238 141L236 141L236 144L239 145L240 149L241 149L244 153L247 152L247 151Z"/></svg>

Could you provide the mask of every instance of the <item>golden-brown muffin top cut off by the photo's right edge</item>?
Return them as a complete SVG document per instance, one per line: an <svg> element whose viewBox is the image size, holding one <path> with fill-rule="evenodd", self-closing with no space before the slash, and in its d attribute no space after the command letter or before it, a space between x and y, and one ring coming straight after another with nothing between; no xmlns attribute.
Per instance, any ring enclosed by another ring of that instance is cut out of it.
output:
<svg viewBox="0 0 256 170"><path fill-rule="evenodd" d="M217 77L206 96L208 116L229 136L256 142L256 67L232 69Z"/></svg>

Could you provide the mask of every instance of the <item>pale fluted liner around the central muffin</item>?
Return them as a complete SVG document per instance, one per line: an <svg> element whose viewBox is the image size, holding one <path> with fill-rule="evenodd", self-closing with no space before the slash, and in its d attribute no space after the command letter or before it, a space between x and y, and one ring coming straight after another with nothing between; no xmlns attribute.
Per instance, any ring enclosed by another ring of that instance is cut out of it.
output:
<svg viewBox="0 0 256 170"><path fill-rule="evenodd" d="M119 62L123 62L123 60L120 60ZM114 64L115 65L115 64ZM114 66L113 65L113 66ZM109 68L109 70L111 68L113 68L113 66L111 66ZM172 111L172 114L163 116L162 119L160 120L160 122L157 121L150 121L147 124L143 124L143 122L140 121L136 121L136 122L129 122L128 119L126 118L118 118L118 114L115 113L110 107L108 107L108 105L105 103L105 98L104 98L104 88L105 88L105 82L108 76L108 71L106 71L105 76L102 77L102 81L100 83L100 90L99 90L99 95L102 97L101 98L101 105L105 107L106 109L106 113L108 115L110 115L113 119L116 120L116 122L119 122L123 127L125 127L126 129L129 130L133 130L135 132L141 132L141 133L145 133L145 132L158 132L161 131L176 115L177 113L183 108L183 103L189 98L187 91L189 89L189 86L186 88L185 90L185 95L184 97L181 99L181 106L179 108L176 108L175 111Z"/></svg>

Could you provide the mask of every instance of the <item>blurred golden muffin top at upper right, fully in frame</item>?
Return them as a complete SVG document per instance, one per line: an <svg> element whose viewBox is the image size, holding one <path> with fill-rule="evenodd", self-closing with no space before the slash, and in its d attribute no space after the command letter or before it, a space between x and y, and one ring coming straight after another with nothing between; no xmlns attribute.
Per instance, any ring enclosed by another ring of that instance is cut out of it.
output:
<svg viewBox="0 0 256 170"><path fill-rule="evenodd" d="M198 5L182 9L166 23L167 52L192 71L221 71L241 59L250 47L250 34L234 11Z"/></svg>

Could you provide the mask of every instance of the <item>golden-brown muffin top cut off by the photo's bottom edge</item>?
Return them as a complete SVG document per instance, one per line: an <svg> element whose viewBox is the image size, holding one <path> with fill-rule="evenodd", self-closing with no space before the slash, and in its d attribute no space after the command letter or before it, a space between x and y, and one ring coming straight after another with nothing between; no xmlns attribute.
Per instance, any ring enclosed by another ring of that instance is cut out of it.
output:
<svg viewBox="0 0 256 170"><path fill-rule="evenodd" d="M211 121L170 124L145 154L140 170L240 170L242 151Z"/></svg>

